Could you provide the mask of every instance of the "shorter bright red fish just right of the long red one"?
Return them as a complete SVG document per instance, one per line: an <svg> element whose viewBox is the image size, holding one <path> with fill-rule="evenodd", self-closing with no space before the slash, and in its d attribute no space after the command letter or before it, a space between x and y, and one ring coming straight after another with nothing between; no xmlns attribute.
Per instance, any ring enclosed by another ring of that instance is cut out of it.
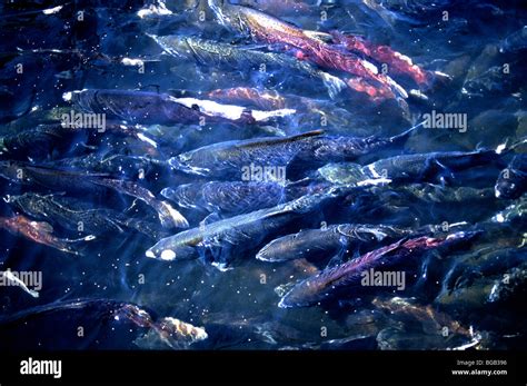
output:
<svg viewBox="0 0 527 386"><path fill-rule="evenodd" d="M379 63L388 65L390 73L410 77L419 87L427 87L434 79L434 73L414 65L410 58L392 50L388 46L378 46L360 37L332 31L336 43L342 44L348 51L364 55Z"/></svg>

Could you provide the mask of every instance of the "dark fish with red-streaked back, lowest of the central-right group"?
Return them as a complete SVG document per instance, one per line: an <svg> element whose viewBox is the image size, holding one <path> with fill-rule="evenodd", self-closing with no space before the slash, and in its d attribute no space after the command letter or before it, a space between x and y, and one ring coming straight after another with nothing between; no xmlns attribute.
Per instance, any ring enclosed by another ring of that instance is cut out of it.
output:
<svg viewBox="0 0 527 386"><path fill-rule="evenodd" d="M409 240L402 239L389 246L375 249L339 266L326 268L320 274L298 283L281 298L278 306L281 308L309 307L321 301L331 300L342 291L350 295L354 289L362 288L364 273L371 269L381 271L398 266L406 266L427 250L456 245L473 238L475 235L476 232L460 231L440 238L418 237Z"/></svg>

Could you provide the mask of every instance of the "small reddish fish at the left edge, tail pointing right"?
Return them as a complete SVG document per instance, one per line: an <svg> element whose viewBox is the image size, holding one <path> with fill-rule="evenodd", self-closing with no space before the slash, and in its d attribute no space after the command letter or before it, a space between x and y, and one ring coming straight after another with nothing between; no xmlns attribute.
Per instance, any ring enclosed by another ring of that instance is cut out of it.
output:
<svg viewBox="0 0 527 386"><path fill-rule="evenodd" d="M61 239L52 235L53 227L50 224L32 221L24 216L0 217L0 228L13 235L22 235L31 241L73 255L79 255L73 248L73 244L95 239L95 236L91 235L78 240Z"/></svg>

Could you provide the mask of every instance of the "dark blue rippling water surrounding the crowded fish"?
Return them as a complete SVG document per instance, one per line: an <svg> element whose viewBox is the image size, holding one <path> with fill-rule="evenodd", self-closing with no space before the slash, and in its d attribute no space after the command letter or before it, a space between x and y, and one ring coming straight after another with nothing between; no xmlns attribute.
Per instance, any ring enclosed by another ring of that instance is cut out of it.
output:
<svg viewBox="0 0 527 386"><path fill-rule="evenodd" d="M201 95L206 99L207 92L215 89L250 87L278 92L285 100L290 100L288 108L300 103L299 98L310 107L268 125L143 125L142 132L156 141L157 147L110 131L91 132L81 133L73 140L69 138L63 147L59 143L63 138L59 138L53 145L56 150L44 157L19 157L2 150L1 160L56 166L66 160L63 166L73 157L95 155L105 159L116 154L167 160L220 141L295 135L320 128L329 135L388 137L420 122L432 110L464 115L467 126L465 129L417 130L402 147L371 154L359 161L367 164L404 152L495 149L526 136L527 13L520 2L239 2L259 7L306 30L338 30L361 36L402 52L426 70L448 76L447 80L422 88L426 98L410 95L404 103L396 100L374 102L364 95L347 91L331 99L320 81L287 68L265 71L236 66L225 68L163 55L150 36L182 34L246 49L269 49L265 43L221 27L206 3L198 0L2 3L0 135L60 122L61 113L71 110L63 95L82 89L171 92L175 96L187 90L189 95ZM54 7L59 8L43 12ZM145 11L148 9L157 12L148 14ZM125 66L125 58L140 59L142 65ZM331 73L344 76L337 71ZM394 78L407 91L418 89L404 77ZM325 117L324 123L321 117ZM514 150L516 154L521 151L525 152L525 147ZM488 162L469 168L434 184L438 189L494 189L500 170L509 160L510 157L504 165ZM77 167L79 169L83 168ZM126 174L117 175L138 181L157 197L161 197L159 192L166 187L212 180L170 169L162 169L160 174L146 172L145 179L138 179L139 169L131 167ZM64 194L60 189L22 185L4 178L0 179L0 189L4 198L0 210L6 218L24 214L7 202L8 197L23 192ZM102 232L92 241L76 244L81 254L72 255L2 229L0 268L41 273L42 288L36 298L16 286L0 287L0 318L3 320L0 336L9 336L0 347L170 348L156 337L141 339L148 328L126 318L116 320L112 309L119 306L113 307L109 300L136 304L159 318L175 317L205 327L207 339L181 348L525 347L525 196L524 200L499 199L491 190L489 197L481 199L398 200L402 197L400 189L395 187L390 195L379 192L317 210L315 215L306 215L312 216L310 219L315 225L297 221L281 228L279 236L324 224L418 228L461 221L481 230L483 235L461 249L424 254L419 265L408 271L415 280L404 291L394 288L371 288L360 295L350 291L329 305L311 307L279 308L280 290L276 288L315 275L332 256L327 256L324 264L305 260L265 263L255 259L255 255L269 240L248 239L245 243L251 246L250 251L233 256L236 264L221 271L206 259L150 259L145 253L160 237L130 230ZM424 191L425 187L416 189ZM158 222L151 208L126 195L86 191L72 196L90 208L110 208L129 218ZM172 206L189 220L190 228L199 227L209 215L207 210L178 207L177 202ZM513 212L510 217L499 215L506 208ZM31 214L26 216L32 219ZM210 221L215 219L209 218ZM59 238L87 236L67 229L52 217L46 220ZM159 224L156 229L166 231L166 236L182 230L163 230ZM361 246L346 256L338 256L341 260L336 264L369 250L368 246ZM332 261L330 264L335 264ZM498 289L503 290L499 296L496 295ZM90 307L61 308L79 298L106 300ZM44 305L56 307L56 311L37 313ZM29 327L24 325L26 318L31 320ZM83 337L78 336L79 326L86 329Z"/></svg>

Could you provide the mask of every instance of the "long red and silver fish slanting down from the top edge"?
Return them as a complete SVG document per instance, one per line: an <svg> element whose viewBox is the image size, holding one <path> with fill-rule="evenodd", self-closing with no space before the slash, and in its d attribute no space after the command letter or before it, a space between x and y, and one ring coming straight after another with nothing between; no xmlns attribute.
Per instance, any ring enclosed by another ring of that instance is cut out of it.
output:
<svg viewBox="0 0 527 386"><path fill-rule="evenodd" d="M322 68L365 78L379 89L379 96L395 98L394 92L397 92L407 97L400 86L378 73L374 65L351 52L345 52L339 47L328 44L317 33L305 31L252 8L230 4L222 0L208 0L208 2L221 24L249 34L256 41L280 46L295 52L298 59L309 60Z"/></svg>

